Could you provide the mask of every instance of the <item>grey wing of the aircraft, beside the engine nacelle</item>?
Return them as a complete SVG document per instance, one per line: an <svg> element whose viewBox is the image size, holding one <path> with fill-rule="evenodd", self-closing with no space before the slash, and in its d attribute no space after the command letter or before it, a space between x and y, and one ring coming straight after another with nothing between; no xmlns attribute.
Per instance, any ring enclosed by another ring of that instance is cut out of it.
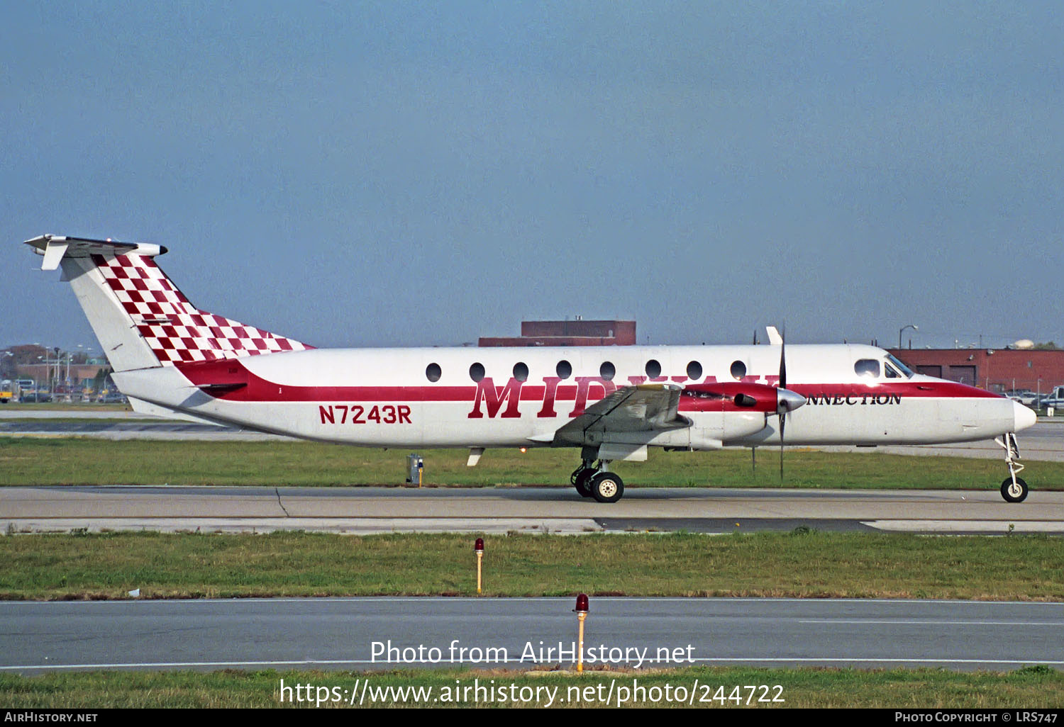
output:
<svg viewBox="0 0 1064 727"><path fill-rule="evenodd" d="M555 444L580 444L589 432L664 432L691 426L681 416L679 386L626 386L588 406L584 413L554 432Z"/></svg>

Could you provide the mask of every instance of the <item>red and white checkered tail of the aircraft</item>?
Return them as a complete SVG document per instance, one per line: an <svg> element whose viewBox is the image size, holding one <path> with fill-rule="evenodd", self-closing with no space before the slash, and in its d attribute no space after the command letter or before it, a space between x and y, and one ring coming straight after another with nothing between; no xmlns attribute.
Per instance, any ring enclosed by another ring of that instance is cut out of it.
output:
<svg viewBox="0 0 1064 727"><path fill-rule="evenodd" d="M51 235L27 243L43 269L62 266L116 371L312 348L198 309L155 264L166 248Z"/></svg>

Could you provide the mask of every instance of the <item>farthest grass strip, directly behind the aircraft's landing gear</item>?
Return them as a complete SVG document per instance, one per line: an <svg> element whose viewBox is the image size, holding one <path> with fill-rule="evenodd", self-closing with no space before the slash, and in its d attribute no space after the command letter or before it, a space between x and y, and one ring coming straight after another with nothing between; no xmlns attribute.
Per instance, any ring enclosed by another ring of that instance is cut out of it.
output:
<svg viewBox="0 0 1064 727"><path fill-rule="evenodd" d="M488 450L475 468L465 450L419 450L426 483L444 486L564 485L576 450ZM409 451L316 442L110 441L77 437L0 437L0 485L399 485ZM305 462L314 462L305 467ZM757 474L749 452L667 453L642 463L616 462L627 487L780 487L775 451ZM996 459L910 457L878 453L786 453L784 486L824 489L996 489ZM1064 489L1064 462L1029 462L1035 489Z"/></svg>

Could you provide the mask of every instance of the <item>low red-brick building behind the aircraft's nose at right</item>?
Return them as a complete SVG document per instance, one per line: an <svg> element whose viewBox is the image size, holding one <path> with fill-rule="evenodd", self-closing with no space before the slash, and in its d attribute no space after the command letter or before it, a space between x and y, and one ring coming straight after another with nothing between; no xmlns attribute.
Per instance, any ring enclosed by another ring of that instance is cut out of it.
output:
<svg viewBox="0 0 1064 727"><path fill-rule="evenodd" d="M1064 384L1064 350L891 349L917 373L948 378L987 391L1047 392Z"/></svg>

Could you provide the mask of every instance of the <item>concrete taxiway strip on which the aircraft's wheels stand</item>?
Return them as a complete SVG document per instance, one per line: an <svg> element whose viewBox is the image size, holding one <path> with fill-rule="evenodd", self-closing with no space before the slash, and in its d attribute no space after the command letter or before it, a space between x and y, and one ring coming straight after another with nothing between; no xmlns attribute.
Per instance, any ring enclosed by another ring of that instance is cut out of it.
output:
<svg viewBox="0 0 1064 727"><path fill-rule="evenodd" d="M630 488L612 505L567 487L5 487L3 531L733 532L890 530L1064 534L1064 492L1005 503L997 489Z"/></svg>

